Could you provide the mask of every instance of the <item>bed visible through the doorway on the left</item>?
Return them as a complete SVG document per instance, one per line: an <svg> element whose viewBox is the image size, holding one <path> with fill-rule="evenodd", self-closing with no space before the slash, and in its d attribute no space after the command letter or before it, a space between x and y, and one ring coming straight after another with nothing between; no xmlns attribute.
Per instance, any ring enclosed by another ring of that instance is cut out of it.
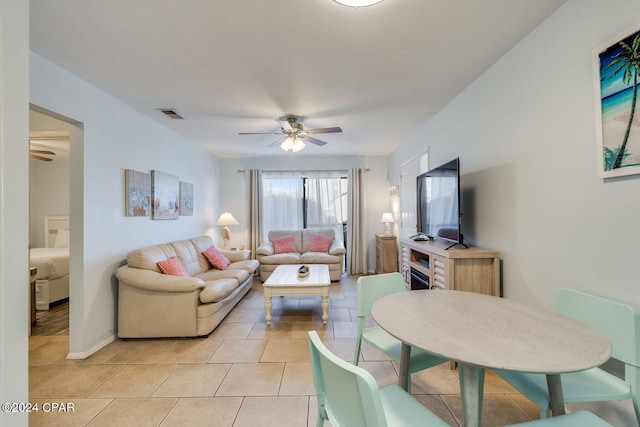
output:
<svg viewBox="0 0 640 427"><path fill-rule="evenodd" d="M29 250L29 263L36 267L36 309L69 298L69 217L44 217L44 248Z"/></svg>

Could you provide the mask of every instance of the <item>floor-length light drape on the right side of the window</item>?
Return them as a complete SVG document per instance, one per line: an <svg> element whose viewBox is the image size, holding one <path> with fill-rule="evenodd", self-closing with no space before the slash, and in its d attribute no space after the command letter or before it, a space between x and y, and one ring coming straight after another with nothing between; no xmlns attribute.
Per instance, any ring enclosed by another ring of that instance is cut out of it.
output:
<svg viewBox="0 0 640 427"><path fill-rule="evenodd" d="M365 170L351 169L348 179L347 273L364 274L367 272Z"/></svg>

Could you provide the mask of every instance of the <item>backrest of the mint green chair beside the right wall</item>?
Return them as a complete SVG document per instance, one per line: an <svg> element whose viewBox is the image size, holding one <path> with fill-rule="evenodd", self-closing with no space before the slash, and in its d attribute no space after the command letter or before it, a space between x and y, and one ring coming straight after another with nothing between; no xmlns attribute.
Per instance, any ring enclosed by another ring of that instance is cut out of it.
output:
<svg viewBox="0 0 640 427"><path fill-rule="evenodd" d="M585 323L611 342L612 357L640 367L640 310L573 289L559 289L553 310Z"/></svg>

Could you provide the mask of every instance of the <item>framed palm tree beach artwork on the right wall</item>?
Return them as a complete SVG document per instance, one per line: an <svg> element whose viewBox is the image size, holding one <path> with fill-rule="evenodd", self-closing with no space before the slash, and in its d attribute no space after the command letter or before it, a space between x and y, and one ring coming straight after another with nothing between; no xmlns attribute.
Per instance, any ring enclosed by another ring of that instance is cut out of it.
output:
<svg viewBox="0 0 640 427"><path fill-rule="evenodd" d="M640 173L640 26L593 52L598 169L602 178Z"/></svg>

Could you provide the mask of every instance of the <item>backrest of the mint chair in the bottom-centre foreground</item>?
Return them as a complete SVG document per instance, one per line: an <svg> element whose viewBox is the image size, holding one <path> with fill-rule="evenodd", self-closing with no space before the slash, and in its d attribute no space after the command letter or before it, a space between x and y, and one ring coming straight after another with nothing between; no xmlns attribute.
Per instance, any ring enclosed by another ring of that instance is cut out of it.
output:
<svg viewBox="0 0 640 427"><path fill-rule="evenodd" d="M334 355L309 332L313 383L333 426L385 427L380 390L373 376Z"/></svg>

